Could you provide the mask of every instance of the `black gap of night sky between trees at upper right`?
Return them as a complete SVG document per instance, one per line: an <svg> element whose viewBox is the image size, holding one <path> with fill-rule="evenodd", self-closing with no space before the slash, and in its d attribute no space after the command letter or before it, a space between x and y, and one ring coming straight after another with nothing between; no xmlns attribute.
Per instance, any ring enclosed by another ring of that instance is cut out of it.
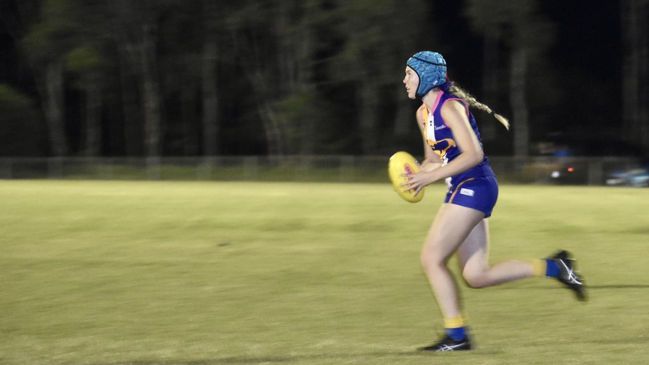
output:
<svg viewBox="0 0 649 365"><path fill-rule="evenodd" d="M566 132L578 137L591 127L603 136L620 123L622 103L622 47L618 1L545 1L548 15L557 23L558 37L550 56L563 70L561 88ZM574 84L588 94L573 95ZM596 95L609 94L609 102L589 103ZM574 110L574 111L573 111Z"/></svg>

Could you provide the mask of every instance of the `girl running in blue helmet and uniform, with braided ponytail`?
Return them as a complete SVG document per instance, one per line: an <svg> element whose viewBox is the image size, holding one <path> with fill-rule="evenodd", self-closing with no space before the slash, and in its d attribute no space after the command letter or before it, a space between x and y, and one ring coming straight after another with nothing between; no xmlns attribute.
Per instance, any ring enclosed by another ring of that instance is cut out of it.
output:
<svg viewBox="0 0 649 365"><path fill-rule="evenodd" d="M585 300L583 280L574 271L567 251L543 260L509 260L490 266L488 218L498 198L498 182L480 143L480 132L469 107L485 110L507 129L509 122L476 101L447 77L446 61L439 53L423 51L406 62L404 84L410 99L423 103L415 118L424 140L425 160L419 173L405 174L405 190L419 192L445 179L448 192L430 227L421 262L444 317L445 336L424 351L471 349L454 277L447 260L458 254L465 281L486 288L528 277L554 277Z"/></svg>

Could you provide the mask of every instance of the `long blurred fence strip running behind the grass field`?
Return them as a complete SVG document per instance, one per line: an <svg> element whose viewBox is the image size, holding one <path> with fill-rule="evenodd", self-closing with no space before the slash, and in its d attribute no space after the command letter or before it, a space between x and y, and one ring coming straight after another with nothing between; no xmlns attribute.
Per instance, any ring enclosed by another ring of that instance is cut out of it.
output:
<svg viewBox="0 0 649 365"><path fill-rule="evenodd" d="M134 179L226 181L387 181L387 156L0 157L0 179ZM511 183L606 184L637 158L491 157L498 179ZM554 177L553 177L554 176Z"/></svg>

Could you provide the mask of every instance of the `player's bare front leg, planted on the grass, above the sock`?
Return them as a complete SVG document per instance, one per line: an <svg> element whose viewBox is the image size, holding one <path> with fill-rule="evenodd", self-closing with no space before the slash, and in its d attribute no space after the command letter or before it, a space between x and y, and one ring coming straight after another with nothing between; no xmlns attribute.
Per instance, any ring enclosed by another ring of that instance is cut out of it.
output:
<svg viewBox="0 0 649 365"><path fill-rule="evenodd" d="M443 204L428 231L421 263L444 318L459 315L458 289L447 260L483 218L484 213L479 210Z"/></svg>

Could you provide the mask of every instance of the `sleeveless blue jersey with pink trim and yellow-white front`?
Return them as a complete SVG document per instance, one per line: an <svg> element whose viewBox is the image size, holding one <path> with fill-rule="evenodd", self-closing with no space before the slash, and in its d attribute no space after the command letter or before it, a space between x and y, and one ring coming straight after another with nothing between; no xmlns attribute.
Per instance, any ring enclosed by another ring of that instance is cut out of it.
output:
<svg viewBox="0 0 649 365"><path fill-rule="evenodd" d="M430 149L439 156L442 166L454 160L461 153L461 148L454 140L453 132L445 123L444 118L442 118L442 106L449 100L458 100L464 104L467 109L471 128L478 137L478 142L481 142L480 145L482 146L482 138L480 138L480 132L478 132L478 125L476 125L476 119L473 117L473 114L469 112L469 105L467 105L467 103L462 99L455 97L455 95L439 92L439 94L437 94L437 99L435 99L435 103L432 106L432 112L426 108L426 104L423 104L420 109L420 118L422 122L425 123L424 135L426 136L428 145L430 146ZM458 175L448 177L446 183L448 189L451 190L453 184L461 183L466 179L487 176L495 175L493 170L491 170L491 166L489 166L489 158L485 156L478 166L474 166L467 171L458 173Z"/></svg>

